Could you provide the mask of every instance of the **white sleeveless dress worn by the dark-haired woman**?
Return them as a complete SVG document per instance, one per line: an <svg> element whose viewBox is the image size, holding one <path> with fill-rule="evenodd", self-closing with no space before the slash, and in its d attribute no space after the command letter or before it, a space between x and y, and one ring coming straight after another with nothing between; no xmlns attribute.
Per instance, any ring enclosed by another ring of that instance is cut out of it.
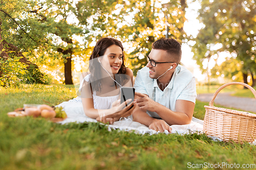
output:
<svg viewBox="0 0 256 170"><path fill-rule="evenodd" d="M83 80L80 83L79 86L79 92L81 92L82 84L84 81L89 82L90 81L91 74L87 75L83 78ZM110 109L112 107L112 104L118 100L118 95L114 96L98 96L96 95L96 91L93 91L93 103L94 103L94 109ZM77 96L73 100L70 100L69 102L76 102L76 103L82 103L81 97Z"/></svg>

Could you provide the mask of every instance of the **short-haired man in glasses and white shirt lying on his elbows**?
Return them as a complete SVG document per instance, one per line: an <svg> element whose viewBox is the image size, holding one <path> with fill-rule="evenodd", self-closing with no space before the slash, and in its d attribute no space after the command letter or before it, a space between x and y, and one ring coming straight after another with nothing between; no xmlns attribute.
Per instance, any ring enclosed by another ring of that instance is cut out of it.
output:
<svg viewBox="0 0 256 170"><path fill-rule="evenodd" d="M171 132L169 125L189 124L197 96L196 81L179 65L180 43L170 38L155 41L147 60L135 79L133 120L160 132Z"/></svg>

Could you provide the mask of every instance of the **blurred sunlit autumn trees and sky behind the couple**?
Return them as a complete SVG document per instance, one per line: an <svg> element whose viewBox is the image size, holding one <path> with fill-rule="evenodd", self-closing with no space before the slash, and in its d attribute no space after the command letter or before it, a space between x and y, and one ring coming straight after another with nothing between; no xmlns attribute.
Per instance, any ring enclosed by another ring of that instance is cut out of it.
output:
<svg viewBox="0 0 256 170"><path fill-rule="evenodd" d="M1 0L0 85L79 84L102 37L124 46L137 71L159 38L182 44L199 86L256 83L253 0Z"/></svg>

